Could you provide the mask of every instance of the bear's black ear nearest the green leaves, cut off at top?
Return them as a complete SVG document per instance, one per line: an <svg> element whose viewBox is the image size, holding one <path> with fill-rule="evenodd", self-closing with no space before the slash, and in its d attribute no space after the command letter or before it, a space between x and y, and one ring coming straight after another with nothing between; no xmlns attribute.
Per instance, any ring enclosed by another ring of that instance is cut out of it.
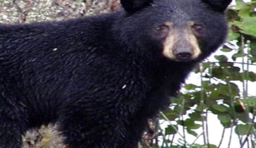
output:
<svg viewBox="0 0 256 148"><path fill-rule="evenodd" d="M232 0L202 0L203 2L211 5L214 10L225 11Z"/></svg>

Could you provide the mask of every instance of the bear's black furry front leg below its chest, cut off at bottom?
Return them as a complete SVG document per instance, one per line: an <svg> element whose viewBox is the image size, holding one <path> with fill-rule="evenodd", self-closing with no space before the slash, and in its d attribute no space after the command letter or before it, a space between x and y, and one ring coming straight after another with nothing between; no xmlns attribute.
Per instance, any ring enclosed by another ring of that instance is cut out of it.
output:
<svg viewBox="0 0 256 148"><path fill-rule="evenodd" d="M131 106L76 101L60 112L60 131L69 148L136 148L144 122Z"/></svg>

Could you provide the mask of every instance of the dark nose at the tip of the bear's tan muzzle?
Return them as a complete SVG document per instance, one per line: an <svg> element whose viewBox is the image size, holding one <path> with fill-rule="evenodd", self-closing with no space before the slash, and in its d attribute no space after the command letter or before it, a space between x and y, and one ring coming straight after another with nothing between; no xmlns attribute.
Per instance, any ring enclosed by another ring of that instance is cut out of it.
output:
<svg viewBox="0 0 256 148"><path fill-rule="evenodd" d="M179 61L189 61L191 60L193 52L191 49L184 48L184 49L174 50L173 54L176 57L176 59Z"/></svg>

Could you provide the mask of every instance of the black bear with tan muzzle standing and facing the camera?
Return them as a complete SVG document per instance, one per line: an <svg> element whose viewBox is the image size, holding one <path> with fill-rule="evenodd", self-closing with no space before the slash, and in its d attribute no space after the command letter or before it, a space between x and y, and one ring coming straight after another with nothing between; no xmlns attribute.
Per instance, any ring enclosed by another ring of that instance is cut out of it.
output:
<svg viewBox="0 0 256 148"><path fill-rule="evenodd" d="M0 25L0 148L57 123L69 148L136 148L187 74L225 40L231 0L121 0L124 9Z"/></svg>

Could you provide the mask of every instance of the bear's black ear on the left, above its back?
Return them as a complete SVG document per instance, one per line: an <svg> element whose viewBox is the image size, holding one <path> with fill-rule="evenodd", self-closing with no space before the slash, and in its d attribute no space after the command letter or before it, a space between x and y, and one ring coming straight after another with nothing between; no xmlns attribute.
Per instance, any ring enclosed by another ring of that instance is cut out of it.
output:
<svg viewBox="0 0 256 148"><path fill-rule="evenodd" d="M125 11L132 12L148 6L153 0L121 0Z"/></svg>

